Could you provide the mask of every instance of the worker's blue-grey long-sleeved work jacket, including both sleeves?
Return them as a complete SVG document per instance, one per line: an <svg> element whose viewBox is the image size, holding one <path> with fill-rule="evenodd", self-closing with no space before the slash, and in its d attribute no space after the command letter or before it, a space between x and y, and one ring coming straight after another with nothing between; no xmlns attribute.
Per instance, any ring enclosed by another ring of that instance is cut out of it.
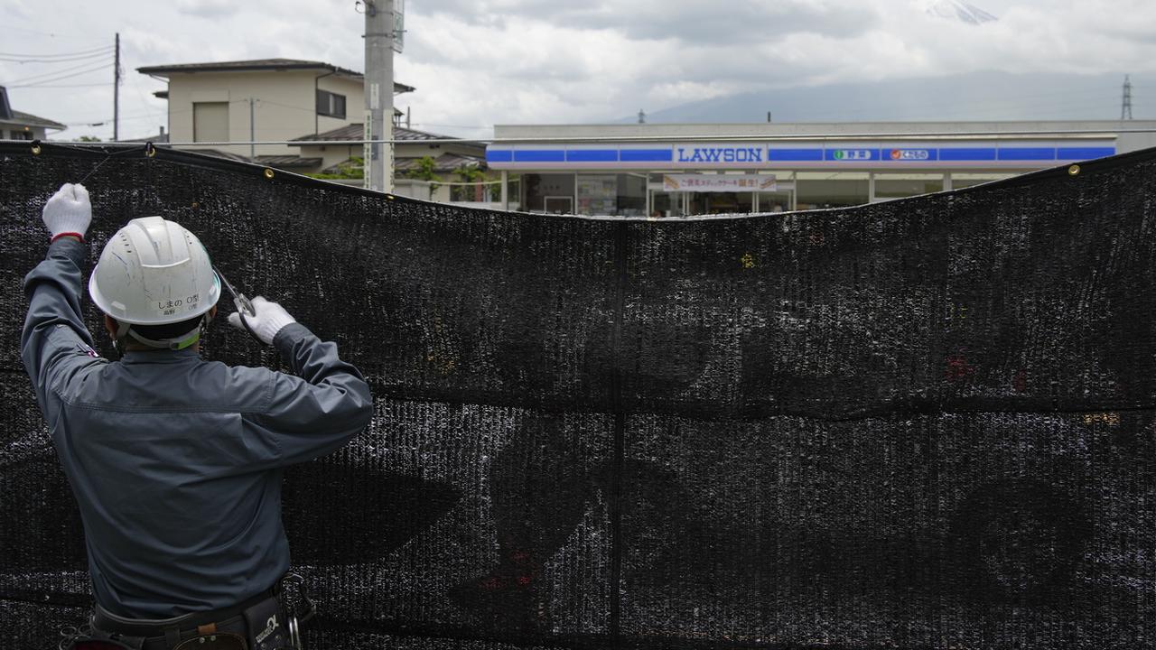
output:
<svg viewBox="0 0 1156 650"><path fill-rule="evenodd" d="M166 618L253 597L289 568L283 467L364 429L369 386L299 324L274 339L298 377L191 349L101 359L81 318L86 252L58 239L24 279L21 355L80 505L96 601Z"/></svg>

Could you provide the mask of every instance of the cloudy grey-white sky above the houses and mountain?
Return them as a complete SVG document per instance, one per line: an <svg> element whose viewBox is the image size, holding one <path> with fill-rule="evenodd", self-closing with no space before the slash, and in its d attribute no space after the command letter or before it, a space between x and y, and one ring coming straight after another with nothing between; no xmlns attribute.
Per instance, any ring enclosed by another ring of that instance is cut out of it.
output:
<svg viewBox="0 0 1156 650"><path fill-rule="evenodd" d="M981 25L929 15L933 1L407 0L395 77L417 90L395 101L412 108L415 128L486 136L495 124L605 123L770 88L988 69L1122 82L1125 73L1156 71L1151 0L975 0L999 17ZM164 83L138 67L281 57L364 69L364 17L353 0L0 0L0 84L15 110L68 124L57 139L111 138L118 31L121 138L165 125L165 102L153 97ZM105 46L106 59L15 61ZM1156 102L1153 88L1134 95L1138 112ZM1057 89L1046 101L1088 99Z"/></svg>

